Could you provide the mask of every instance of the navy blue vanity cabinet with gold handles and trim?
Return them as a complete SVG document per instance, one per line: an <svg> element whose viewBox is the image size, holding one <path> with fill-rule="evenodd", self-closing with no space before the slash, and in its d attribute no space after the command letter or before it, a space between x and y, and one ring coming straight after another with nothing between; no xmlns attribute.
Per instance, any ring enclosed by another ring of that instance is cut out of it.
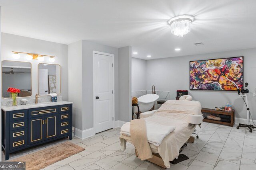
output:
<svg viewBox="0 0 256 170"><path fill-rule="evenodd" d="M72 139L72 104L14 111L2 108L2 150L6 160L12 152L63 137Z"/></svg>

